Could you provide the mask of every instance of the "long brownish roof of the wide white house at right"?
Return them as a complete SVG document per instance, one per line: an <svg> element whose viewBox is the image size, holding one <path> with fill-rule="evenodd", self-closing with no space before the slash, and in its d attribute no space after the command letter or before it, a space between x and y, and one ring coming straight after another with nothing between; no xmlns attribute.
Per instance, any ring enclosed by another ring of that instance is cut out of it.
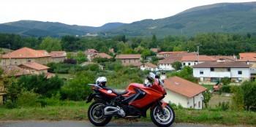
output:
<svg viewBox="0 0 256 127"><path fill-rule="evenodd" d="M209 68L209 67L237 67L237 68L249 68L250 65L245 62L204 62L198 63L193 68Z"/></svg>

